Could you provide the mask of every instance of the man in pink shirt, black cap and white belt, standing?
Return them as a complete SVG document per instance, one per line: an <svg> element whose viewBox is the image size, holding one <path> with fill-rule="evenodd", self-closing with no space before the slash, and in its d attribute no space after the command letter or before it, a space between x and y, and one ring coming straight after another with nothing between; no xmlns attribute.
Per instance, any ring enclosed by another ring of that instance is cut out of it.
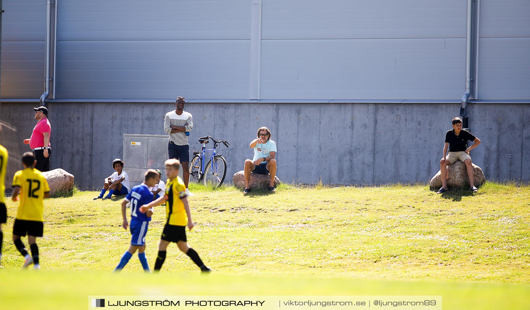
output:
<svg viewBox="0 0 530 310"><path fill-rule="evenodd" d="M35 168L41 172L50 171L50 133L51 125L48 121L48 109L45 106L34 107L37 125L33 128L30 139L25 139L24 143L29 144L35 154L37 164Z"/></svg>

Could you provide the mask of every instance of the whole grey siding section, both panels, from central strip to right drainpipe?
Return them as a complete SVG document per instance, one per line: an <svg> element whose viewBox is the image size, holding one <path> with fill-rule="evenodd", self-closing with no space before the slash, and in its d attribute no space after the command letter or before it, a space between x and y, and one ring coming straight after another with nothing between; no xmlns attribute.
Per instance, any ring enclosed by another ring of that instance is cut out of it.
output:
<svg viewBox="0 0 530 310"><path fill-rule="evenodd" d="M460 98L465 14L458 0L263 0L261 98Z"/></svg>

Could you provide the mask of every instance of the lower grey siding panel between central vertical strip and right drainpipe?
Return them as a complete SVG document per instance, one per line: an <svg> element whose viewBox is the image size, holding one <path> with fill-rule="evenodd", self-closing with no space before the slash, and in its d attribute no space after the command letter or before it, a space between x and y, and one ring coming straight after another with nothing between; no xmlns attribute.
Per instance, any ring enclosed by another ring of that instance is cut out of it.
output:
<svg viewBox="0 0 530 310"><path fill-rule="evenodd" d="M451 99L465 39L263 40L263 99Z"/></svg>

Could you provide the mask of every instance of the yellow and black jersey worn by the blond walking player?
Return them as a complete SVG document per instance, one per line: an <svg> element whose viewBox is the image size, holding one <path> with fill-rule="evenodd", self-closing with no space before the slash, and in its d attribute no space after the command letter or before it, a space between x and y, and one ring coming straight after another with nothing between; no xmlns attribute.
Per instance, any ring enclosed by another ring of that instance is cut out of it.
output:
<svg viewBox="0 0 530 310"><path fill-rule="evenodd" d="M184 209L182 198L186 195L184 190L186 186L180 177L173 180L167 179L165 198L166 198L166 216L167 223L175 226L188 225L188 214Z"/></svg>

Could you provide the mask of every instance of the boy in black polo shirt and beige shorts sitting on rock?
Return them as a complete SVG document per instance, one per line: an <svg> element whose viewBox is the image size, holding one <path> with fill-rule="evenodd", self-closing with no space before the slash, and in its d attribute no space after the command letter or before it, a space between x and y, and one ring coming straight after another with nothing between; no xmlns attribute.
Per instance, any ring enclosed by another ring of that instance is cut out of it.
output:
<svg viewBox="0 0 530 310"><path fill-rule="evenodd" d="M475 141L475 143L467 148L467 140ZM462 119L460 117L453 118L453 129L445 134L444 158L440 160L441 188L438 190L437 194L447 192L447 166L457 160L465 163L471 190L473 193L477 192L478 189L473 183L473 166L471 165L471 156L469 156L469 152L479 144L479 138L476 138L476 136L472 135L469 131L462 130ZM447 148L449 148L449 154L446 157Z"/></svg>

